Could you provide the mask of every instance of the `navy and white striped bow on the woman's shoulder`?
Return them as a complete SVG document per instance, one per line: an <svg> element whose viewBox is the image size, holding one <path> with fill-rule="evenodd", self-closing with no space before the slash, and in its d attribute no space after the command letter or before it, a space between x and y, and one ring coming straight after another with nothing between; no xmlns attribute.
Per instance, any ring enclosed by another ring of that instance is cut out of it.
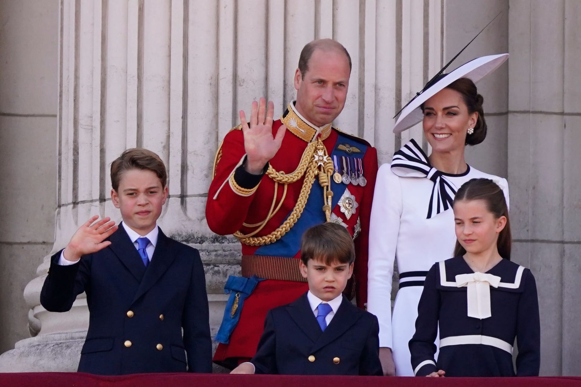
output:
<svg viewBox="0 0 581 387"><path fill-rule="evenodd" d="M393 154L392 172L401 177L428 178L434 183L428 206L428 216L432 218L440 212L452 208L456 196L456 186L436 168L432 167L428 155L414 139Z"/></svg>

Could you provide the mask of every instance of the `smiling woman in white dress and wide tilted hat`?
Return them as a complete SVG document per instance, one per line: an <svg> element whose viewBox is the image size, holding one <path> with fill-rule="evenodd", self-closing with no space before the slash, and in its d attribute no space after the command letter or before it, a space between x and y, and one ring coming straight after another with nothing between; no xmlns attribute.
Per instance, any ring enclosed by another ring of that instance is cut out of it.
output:
<svg viewBox="0 0 581 387"><path fill-rule="evenodd" d="M453 257L456 235L451 204L456 190L470 179L492 179L503 189L508 204L507 181L480 172L464 160L464 147L486 137L483 98L474 82L507 57L480 57L435 77L403 109L394 126L394 133L399 133L422 121L432 153L428 157L411 140L394 154L391 164L379 168L375 183L367 310L379 320L379 355L385 374L414 375L408 342L428 270L435 262ZM400 283L392 317L395 260Z"/></svg>

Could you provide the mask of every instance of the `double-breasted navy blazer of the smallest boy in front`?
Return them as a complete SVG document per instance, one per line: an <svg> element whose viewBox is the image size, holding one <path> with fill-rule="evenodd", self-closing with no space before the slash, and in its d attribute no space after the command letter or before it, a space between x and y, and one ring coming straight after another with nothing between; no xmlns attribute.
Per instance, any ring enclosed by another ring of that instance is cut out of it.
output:
<svg viewBox="0 0 581 387"><path fill-rule="evenodd" d="M303 294L268 311L256 355L257 374L382 375L377 317L345 296L321 331Z"/></svg>

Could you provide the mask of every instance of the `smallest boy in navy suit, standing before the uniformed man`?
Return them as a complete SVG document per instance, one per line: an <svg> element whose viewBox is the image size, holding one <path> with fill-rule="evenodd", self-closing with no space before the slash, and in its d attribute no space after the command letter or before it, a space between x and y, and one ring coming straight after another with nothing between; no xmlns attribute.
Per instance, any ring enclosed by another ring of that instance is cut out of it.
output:
<svg viewBox="0 0 581 387"><path fill-rule="evenodd" d="M349 232L323 223L307 230L301 244L309 291L268 312L256 355L231 373L383 375L377 317L342 295L355 260Z"/></svg>

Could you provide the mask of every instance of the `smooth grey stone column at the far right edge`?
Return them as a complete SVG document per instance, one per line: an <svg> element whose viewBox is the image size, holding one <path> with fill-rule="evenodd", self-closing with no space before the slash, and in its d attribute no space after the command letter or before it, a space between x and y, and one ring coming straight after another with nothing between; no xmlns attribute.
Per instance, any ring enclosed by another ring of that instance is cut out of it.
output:
<svg viewBox="0 0 581 387"><path fill-rule="evenodd" d="M508 180L514 261L535 274L541 374L581 366L581 79L577 1L511 0Z"/></svg>

